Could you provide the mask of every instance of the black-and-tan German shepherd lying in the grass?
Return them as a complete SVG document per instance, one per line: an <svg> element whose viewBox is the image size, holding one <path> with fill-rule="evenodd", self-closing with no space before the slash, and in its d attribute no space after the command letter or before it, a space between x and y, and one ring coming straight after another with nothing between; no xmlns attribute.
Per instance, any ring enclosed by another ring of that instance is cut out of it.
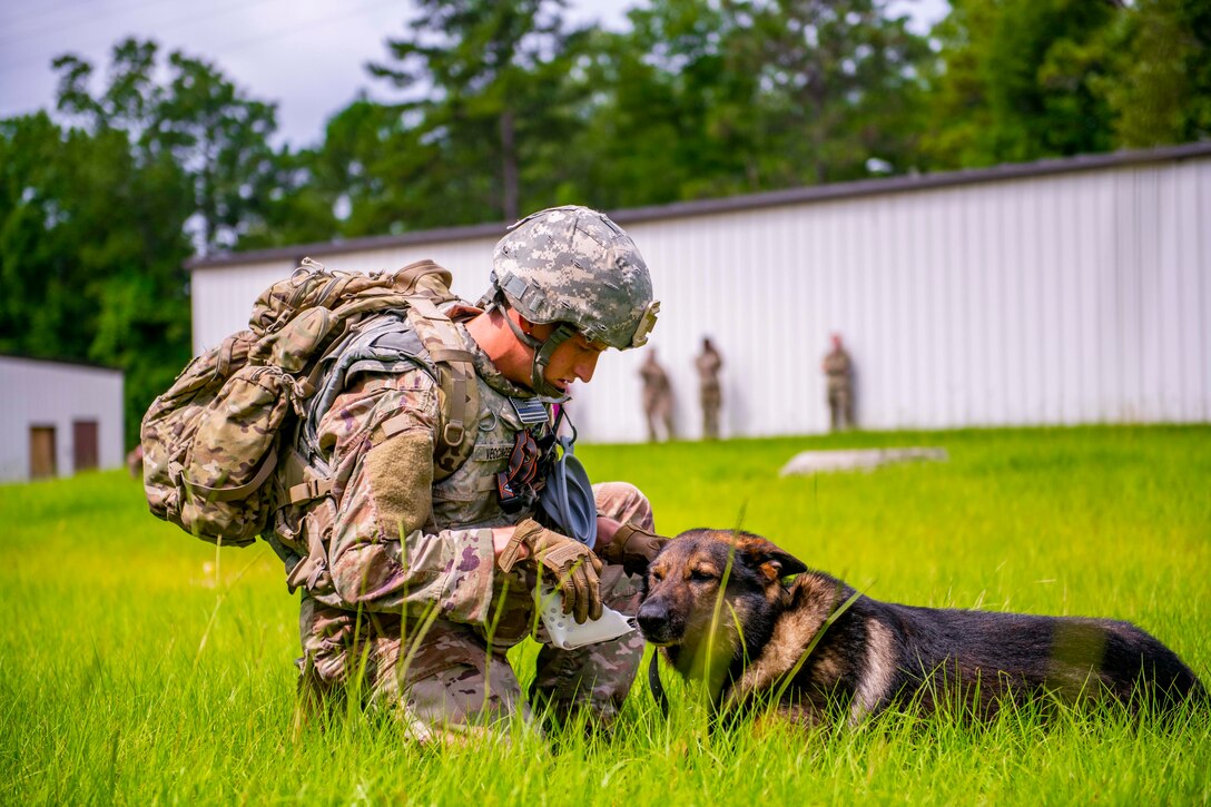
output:
<svg viewBox="0 0 1211 807"><path fill-rule="evenodd" d="M762 699L808 723L893 705L987 719L1040 697L1132 714L1206 703L1194 672L1130 623L879 602L746 532L670 540L648 567L638 623L706 685L717 715Z"/></svg>

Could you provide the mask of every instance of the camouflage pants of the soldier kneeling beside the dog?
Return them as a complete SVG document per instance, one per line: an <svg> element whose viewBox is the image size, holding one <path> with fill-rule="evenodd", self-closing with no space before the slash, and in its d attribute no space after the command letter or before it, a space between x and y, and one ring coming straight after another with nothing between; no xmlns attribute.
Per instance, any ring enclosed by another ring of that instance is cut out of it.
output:
<svg viewBox="0 0 1211 807"><path fill-rule="evenodd" d="M654 528L652 505L638 488L606 482L595 485L593 494L599 515ZM602 571L601 591L615 611L633 616L638 608L637 580L619 566ZM556 719L585 708L596 723L608 725L643 656L638 631L572 651L544 645L528 704L505 656L517 637L489 642L471 625L355 613L305 595L299 633L302 698L349 694L355 687L367 703L396 714L420 740L490 732L513 714L528 723L532 705Z"/></svg>

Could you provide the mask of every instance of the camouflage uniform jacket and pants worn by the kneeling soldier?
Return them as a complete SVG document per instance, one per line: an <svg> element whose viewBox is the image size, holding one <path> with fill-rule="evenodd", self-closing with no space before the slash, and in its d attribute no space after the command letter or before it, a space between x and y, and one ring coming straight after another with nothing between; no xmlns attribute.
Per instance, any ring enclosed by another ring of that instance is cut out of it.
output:
<svg viewBox="0 0 1211 807"><path fill-rule="evenodd" d="M475 310L455 308L450 316ZM533 509L506 514L495 486L523 428L509 397L533 394L504 378L465 327L455 327L480 389L470 458L434 480L438 390L430 374L357 376L318 422L334 485L305 519L309 538L327 549L327 570L303 582L302 685L331 693L356 682L368 703L391 710L419 739L530 714L505 651L535 625L535 578L529 565L499 571L490 528L534 516ZM593 491L601 515L653 528L652 508L635 487ZM603 602L633 614L635 583L621 567L606 566ZM578 651L544 647L533 694L561 716L587 705L608 722L642 652L638 633Z"/></svg>

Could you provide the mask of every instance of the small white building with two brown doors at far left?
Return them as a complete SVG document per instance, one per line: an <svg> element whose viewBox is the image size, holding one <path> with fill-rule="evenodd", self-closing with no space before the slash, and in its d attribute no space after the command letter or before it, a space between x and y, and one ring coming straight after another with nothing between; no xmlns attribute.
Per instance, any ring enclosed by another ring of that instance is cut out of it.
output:
<svg viewBox="0 0 1211 807"><path fill-rule="evenodd" d="M122 372L0 356L0 481L122 464Z"/></svg>

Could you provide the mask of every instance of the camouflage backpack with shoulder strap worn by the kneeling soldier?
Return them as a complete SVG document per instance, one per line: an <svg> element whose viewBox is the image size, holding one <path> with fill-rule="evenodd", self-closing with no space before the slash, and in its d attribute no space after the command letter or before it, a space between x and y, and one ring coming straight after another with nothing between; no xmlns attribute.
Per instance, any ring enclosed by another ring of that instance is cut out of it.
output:
<svg viewBox="0 0 1211 807"><path fill-rule="evenodd" d="M283 439L306 418L332 359L356 342L369 315L397 311L438 382L438 477L470 454L480 408L471 354L438 305L454 299L450 274L431 261L395 273L332 273L303 261L257 299L249 330L201 354L143 417L143 486L151 513L216 544L246 546L274 511L322 494L286 487ZM286 435L283 437L283 435ZM297 452L288 452L297 459ZM293 474L291 474L293 476Z"/></svg>

